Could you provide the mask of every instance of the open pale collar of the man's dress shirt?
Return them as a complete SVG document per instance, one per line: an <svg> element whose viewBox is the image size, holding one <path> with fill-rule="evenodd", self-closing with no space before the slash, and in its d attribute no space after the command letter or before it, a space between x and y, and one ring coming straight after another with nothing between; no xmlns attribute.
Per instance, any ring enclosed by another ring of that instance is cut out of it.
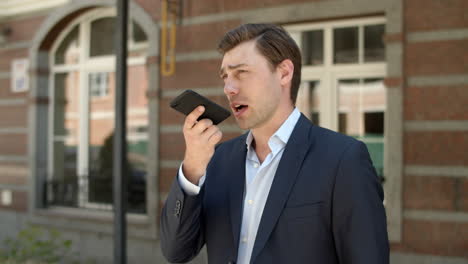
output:
<svg viewBox="0 0 468 264"><path fill-rule="evenodd" d="M292 131L294 130L294 127L296 126L300 116L301 113L296 107L294 107L294 110L286 119L286 121L284 121L280 128L278 128L278 130L276 130L276 132L270 137L270 139L268 140L268 146L270 147L273 154L276 154L284 146L286 146L286 143L288 143L289 137L291 137ZM249 131L249 134L247 135L247 139L245 141L245 144L247 145L247 150L249 152L250 146L252 145L252 141L253 134L252 131Z"/></svg>

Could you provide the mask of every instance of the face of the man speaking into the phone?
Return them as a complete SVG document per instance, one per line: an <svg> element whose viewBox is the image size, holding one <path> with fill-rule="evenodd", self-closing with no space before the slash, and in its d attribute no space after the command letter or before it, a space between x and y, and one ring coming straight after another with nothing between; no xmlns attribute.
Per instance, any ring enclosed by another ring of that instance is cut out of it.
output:
<svg viewBox="0 0 468 264"><path fill-rule="evenodd" d="M271 121L284 96L281 75L258 52L254 41L243 42L224 54L220 76L241 129L259 128Z"/></svg>

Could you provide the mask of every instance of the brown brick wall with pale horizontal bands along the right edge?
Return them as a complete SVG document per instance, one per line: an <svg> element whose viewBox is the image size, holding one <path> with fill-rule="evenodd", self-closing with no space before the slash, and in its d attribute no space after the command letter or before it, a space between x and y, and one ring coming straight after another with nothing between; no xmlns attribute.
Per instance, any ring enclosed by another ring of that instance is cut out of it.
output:
<svg viewBox="0 0 468 264"><path fill-rule="evenodd" d="M406 129L403 157L405 167L422 171L403 175L402 241L392 250L468 258L468 180L448 173L468 167L468 87L454 77L468 73L468 38L457 33L468 30L468 2L403 5L403 115L405 123L424 124Z"/></svg>

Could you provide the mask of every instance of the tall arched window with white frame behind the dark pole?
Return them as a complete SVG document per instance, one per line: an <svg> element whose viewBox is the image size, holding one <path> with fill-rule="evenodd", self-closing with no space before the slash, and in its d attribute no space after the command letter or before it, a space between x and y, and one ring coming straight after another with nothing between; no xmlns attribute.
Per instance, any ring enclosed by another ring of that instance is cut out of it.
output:
<svg viewBox="0 0 468 264"><path fill-rule="evenodd" d="M52 47L48 206L111 209L114 27L115 12L97 9L74 21ZM135 22L129 30L129 49L138 52L128 59L128 211L146 213L147 37Z"/></svg>

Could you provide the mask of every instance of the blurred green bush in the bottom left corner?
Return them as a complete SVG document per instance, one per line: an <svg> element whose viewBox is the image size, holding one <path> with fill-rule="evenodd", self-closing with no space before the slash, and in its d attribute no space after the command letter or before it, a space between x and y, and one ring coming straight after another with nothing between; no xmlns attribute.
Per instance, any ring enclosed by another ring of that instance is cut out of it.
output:
<svg viewBox="0 0 468 264"><path fill-rule="evenodd" d="M6 264L75 264L72 241L62 239L54 229L28 226L16 238L7 238L0 247L0 263Z"/></svg>

